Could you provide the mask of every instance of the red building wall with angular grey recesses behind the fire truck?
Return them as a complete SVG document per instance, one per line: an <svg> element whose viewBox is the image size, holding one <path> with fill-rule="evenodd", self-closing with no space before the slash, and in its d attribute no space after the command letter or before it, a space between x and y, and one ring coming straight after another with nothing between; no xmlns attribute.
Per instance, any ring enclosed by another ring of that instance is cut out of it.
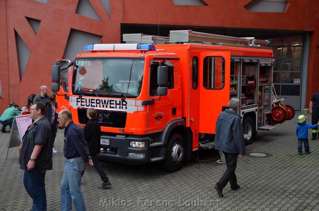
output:
<svg viewBox="0 0 319 211"><path fill-rule="evenodd" d="M76 14L78 0L0 1L0 112L10 101L25 106L27 96L38 94L41 85L50 89L51 65L63 57L71 29L100 35L103 43L114 39L119 43L121 23L309 31L307 102L318 90L318 0L287 0L283 13L249 12L244 6L251 0L204 0L208 6L174 5L172 0L110 0L111 18L100 0L81 1L89 1L101 21ZM41 21L36 34L26 17ZM30 50L21 81L15 31Z"/></svg>

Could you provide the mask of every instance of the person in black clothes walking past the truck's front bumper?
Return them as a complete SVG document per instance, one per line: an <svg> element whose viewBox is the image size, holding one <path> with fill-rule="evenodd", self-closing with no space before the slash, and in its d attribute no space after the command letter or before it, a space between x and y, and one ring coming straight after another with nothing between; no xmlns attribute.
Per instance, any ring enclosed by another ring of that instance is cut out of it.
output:
<svg viewBox="0 0 319 211"><path fill-rule="evenodd" d="M89 145L89 153L92 157L94 168L100 174L100 177L103 181L102 185L98 186L100 189L107 189L111 187L111 183L108 180L105 172L102 169L102 166L99 162L98 156L100 156L101 149L101 126L98 121L95 119L96 110L94 108L89 108L86 111L86 115L89 118L88 123L83 128L85 140Z"/></svg>

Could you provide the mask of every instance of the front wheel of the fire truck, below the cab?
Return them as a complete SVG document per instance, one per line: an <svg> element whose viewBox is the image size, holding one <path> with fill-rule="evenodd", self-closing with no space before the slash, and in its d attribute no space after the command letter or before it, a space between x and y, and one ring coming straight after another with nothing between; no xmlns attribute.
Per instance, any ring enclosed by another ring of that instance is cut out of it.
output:
<svg viewBox="0 0 319 211"><path fill-rule="evenodd" d="M166 145L166 158L162 161L165 171L178 171L185 159L185 143L182 135L175 133L171 135Z"/></svg>

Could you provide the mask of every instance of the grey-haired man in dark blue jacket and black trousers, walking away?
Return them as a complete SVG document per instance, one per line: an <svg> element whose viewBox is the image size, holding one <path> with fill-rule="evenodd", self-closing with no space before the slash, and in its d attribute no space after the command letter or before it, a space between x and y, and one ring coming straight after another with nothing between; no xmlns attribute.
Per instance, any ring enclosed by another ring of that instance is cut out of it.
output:
<svg viewBox="0 0 319 211"><path fill-rule="evenodd" d="M245 139L241 117L237 115L239 99L232 98L229 101L229 109L219 114L216 122L215 149L223 150L227 169L224 175L216 183L215 189L220 197L223 197L223 189L230 183L231 190L239 189L235 170L238 154L245 155Z"/></svg>

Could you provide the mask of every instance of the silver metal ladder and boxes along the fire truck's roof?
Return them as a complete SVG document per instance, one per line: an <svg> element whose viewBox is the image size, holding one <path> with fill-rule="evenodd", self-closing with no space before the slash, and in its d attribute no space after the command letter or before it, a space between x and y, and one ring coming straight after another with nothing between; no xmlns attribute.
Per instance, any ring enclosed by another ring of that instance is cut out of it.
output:
<svg viewBox="0 0 319 211"><path fill-rule="evenodd" d="M267 47L268 40L256 40L254 37L230 37L218 34L209 34L201 32L193 32L192 30L178 30L170 31L169 37L137 34L123 34L123 41L126 43L144 42L154 44L175 44L175 43L189 43L202 42L214 45L244 45L252 47Z"/></svg>

